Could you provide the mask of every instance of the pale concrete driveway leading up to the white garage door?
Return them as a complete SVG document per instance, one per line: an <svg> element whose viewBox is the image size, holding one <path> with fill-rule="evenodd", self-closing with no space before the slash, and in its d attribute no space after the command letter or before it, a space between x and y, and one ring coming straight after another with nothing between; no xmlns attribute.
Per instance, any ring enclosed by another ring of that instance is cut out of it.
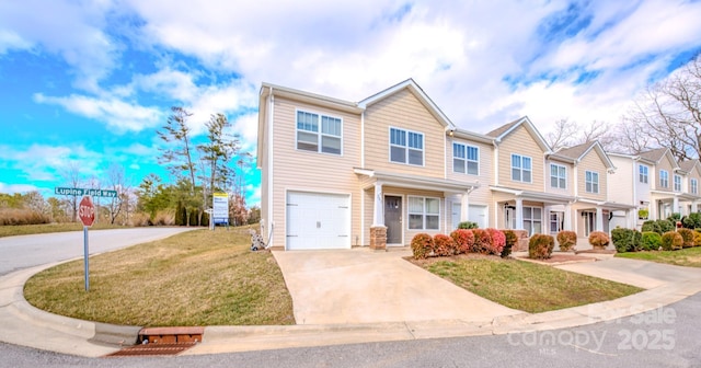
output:
<svg viewBox="0 0 701 368"><path fill-rule="evenodd" d="M273 252L292 296L297 324L426 320L490 321L506 308L405 260L410 251Z"/></svg>

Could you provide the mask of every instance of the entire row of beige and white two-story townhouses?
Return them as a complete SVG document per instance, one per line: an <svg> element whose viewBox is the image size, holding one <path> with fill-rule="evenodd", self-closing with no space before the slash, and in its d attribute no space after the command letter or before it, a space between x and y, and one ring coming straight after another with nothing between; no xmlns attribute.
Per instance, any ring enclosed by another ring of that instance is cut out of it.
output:
<svg viewBox="0 0 701 368"><path fill-rule="evenodd" d="M586 238L701 199L696 160L553 152L528 117L466 130L412 79L360 102L263 83L257 134L261 230L285 250L403 246L461 221Z"/></svg>

